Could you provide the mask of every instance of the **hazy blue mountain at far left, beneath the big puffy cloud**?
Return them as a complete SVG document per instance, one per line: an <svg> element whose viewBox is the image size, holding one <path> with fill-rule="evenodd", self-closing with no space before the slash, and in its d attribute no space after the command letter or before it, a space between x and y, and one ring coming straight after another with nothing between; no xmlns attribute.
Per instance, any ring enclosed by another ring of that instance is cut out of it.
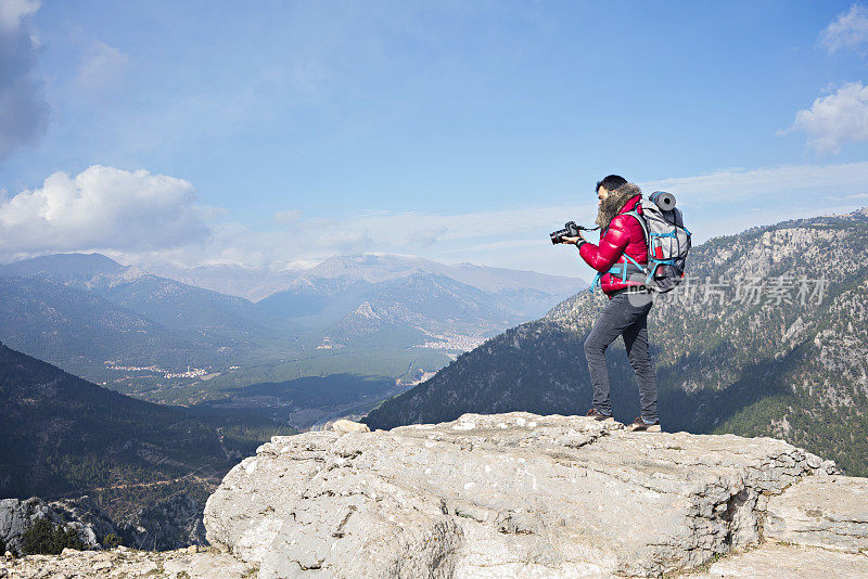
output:
<svg viewBox="0 0 868 579"><path fill-rule="evenodd" d="M101 256L0 267L0 340L128 393L292 351L289 324L250 301L157 278ZM125 369L125 370L122 370Z"/></svg>

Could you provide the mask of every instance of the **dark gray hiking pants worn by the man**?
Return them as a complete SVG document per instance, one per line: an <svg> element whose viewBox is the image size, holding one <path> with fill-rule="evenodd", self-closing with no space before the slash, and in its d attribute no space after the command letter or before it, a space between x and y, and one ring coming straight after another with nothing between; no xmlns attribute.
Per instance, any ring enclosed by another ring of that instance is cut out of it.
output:
<svg viewBox="0 0 868 579"><path fill-rule="evenodd" d="M624 336L627 358L639 383L639 402L642 420L658 422L658 382L651 355L648 352L648 312L653 305L649 294L621 293L613 297L585 340L590 383L593 386L593 408L612 415L609 398L609 370L605 368L605 349L617 336Z"/></svg>

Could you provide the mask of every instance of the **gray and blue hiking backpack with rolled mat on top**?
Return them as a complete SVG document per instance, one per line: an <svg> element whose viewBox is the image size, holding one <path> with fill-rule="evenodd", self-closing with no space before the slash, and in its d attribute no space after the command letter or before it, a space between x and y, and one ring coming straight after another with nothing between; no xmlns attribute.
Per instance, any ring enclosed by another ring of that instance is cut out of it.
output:
<svg viewBox="0 0 868 579"><path fill-rule="evenodd" d="M621 276L622 281L635 274L644 275L643 284L651 292L665 294L681 283L685 276L685 260L690 250L690 231L685 227L681 210L675 207L675 197L664 191L655 191L647 200L641 200L642 214L635 209L622 215L631 215L642 226L648 244L648 265L638 263L624 254L628 263L616 263L609 273ZM664 208L665 207L665 208ZM633 275L630 275L633 274ZM599 283L598 273L591 291Z"/></svg>

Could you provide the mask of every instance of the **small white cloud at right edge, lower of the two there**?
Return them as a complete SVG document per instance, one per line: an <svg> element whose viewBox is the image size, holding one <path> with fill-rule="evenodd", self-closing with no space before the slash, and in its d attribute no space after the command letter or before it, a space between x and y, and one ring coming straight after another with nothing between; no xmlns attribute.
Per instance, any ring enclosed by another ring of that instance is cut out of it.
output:
<svg viewBox="0 0 868 579"><path fill-rule="evenodd" d="M847 82L833 94L800 111L787 131L804 131L807 144L819 153L838 153L847 141L868 141L868 87Z"/></svg>

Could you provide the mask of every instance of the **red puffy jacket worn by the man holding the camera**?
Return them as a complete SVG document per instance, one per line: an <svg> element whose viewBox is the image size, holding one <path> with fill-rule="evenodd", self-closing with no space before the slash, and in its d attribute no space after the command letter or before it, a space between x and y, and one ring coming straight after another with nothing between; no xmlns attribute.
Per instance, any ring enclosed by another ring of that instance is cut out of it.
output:
<svg viewBox="0 0 868 579"><path fill-rule="evenodd" d="M600 245L590 242L583 243L578 253L588 266L599 272L607 272L615 263L626 261L624 254L634 258L638 263L648 263L648 243L644 241L644 231L639 221L625 213L636 209L642 215L641 195L630 197L618 214L612 218L609 227L600 235ZM639 282L626 283L620 276L605 273L600 279L600 287L611 299L612 292L630 285L641 285Z"/></svg>

